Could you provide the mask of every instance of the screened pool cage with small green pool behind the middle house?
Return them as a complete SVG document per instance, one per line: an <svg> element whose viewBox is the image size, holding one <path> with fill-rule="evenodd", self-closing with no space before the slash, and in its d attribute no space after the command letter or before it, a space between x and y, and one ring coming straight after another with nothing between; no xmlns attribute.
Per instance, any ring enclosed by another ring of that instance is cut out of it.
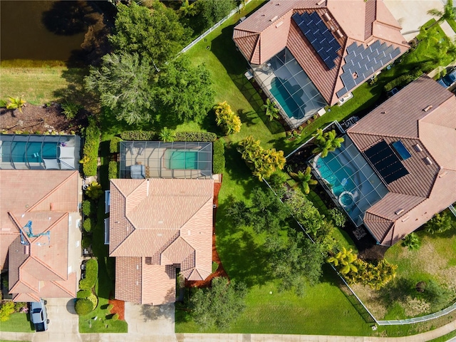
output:
<svg viewBox="0 0 456 342"><path fill-rule="evenodd" d="M121 141L120 178L212 178L212 142Z"/></svg>

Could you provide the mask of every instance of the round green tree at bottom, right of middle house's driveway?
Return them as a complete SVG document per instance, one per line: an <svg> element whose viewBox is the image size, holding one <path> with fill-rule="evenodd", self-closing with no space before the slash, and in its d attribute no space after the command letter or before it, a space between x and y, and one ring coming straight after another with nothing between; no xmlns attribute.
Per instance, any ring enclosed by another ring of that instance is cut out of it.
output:
<svg viewBox="0 0 456 342"><path fill-rule="evenodd" d="M227 278L212 279L208 289L197 289L190 298L192 316L202 329L226 328L244 311L247 287Z"/></svg>

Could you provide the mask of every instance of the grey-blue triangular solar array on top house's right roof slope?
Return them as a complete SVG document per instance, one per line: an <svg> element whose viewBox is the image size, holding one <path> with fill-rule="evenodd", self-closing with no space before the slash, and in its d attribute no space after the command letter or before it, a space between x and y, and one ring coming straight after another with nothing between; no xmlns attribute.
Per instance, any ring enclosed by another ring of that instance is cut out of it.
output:
<svg viewBox="0 0 456 342"><path fill-rule="evenodd" d="M347 48L345 56L346 64L342 67L341 79L343 88L336 94L338 98L348 93L350 90L366 81L376 71L386 66L390 61L400 55L400 48L388 46L387 43L380 43L379 40L373 42L365 48L363 44L352 43ZM356 77L353 77L356 74Z"/></svg>

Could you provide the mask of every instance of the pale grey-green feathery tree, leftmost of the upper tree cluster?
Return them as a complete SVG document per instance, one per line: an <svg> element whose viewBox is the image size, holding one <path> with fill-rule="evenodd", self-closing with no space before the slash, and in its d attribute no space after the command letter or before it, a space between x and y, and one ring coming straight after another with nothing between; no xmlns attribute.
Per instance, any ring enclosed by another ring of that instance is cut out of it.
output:
<svg viewBox="0 0 456 342"><path fill-rule="evenodd" d="M84 81L117 120L134 124L152 120L150 75L147 58L139 58L137 53L109 53L103 56L100 68L90 68Z"/></svg>

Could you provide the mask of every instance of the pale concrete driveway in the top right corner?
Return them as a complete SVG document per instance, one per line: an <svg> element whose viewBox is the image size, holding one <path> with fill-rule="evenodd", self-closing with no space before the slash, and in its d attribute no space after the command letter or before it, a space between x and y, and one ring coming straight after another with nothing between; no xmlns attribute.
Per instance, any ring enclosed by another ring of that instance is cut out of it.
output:
<svg viewBox="0 0 456 342"><path fill-rule="evenodd" d="M434 18L427 14L430 9L443 10L444 1L442 0L383 0L385 5L390 10L391 14L399 21L402 26L400 31L407 41L411 41L415 36L420 33L420 27L423 26L427 21ZM446 25L445 25L446 24ZM452 31L451 27L445 23L442 23L442 29L445 31L447 36L455 36L455 32ZM448 26L451 31L447 32L443 26Z"/></svg>

